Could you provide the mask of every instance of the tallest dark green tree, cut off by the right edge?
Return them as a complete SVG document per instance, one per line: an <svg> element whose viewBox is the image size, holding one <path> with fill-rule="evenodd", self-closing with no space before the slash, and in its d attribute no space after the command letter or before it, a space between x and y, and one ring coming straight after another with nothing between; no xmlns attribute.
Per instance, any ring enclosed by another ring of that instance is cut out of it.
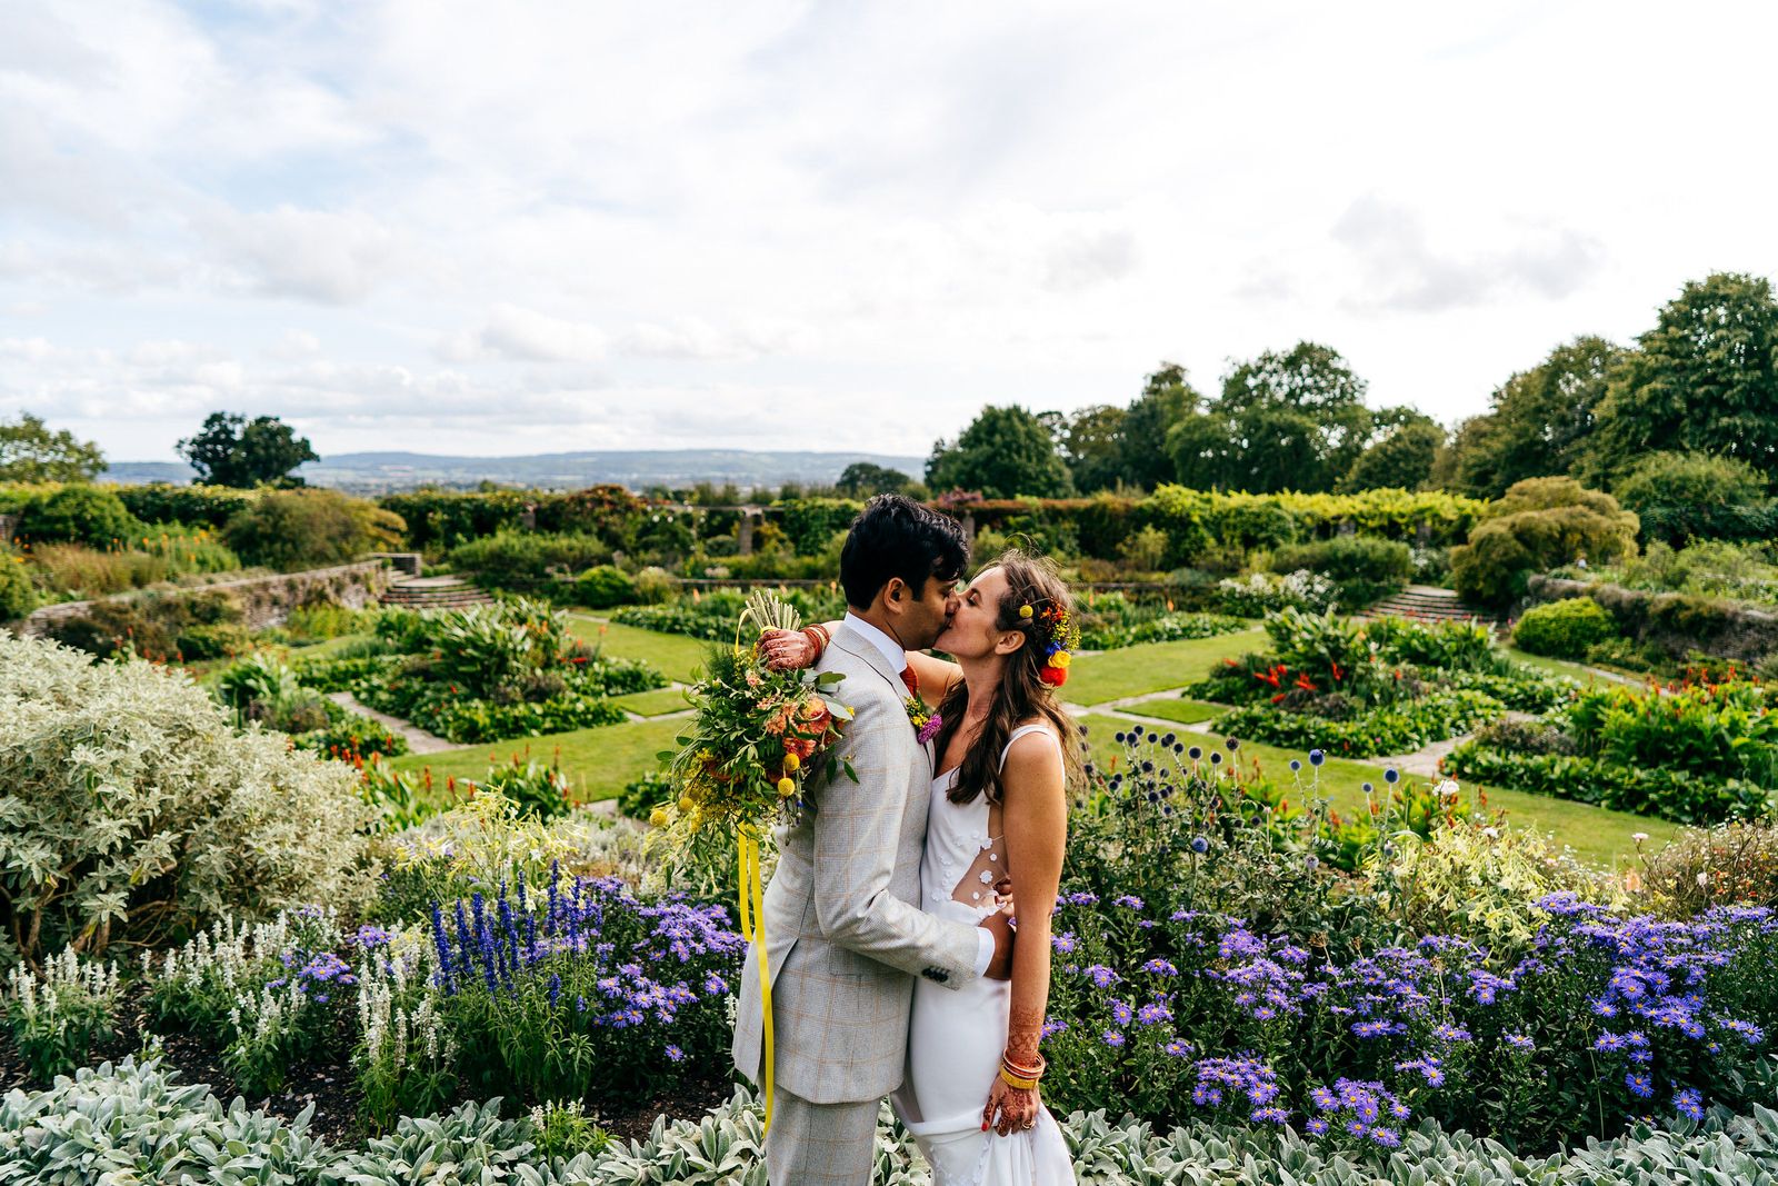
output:
<svg viewBox="0 0 1778 1186"><path fill-rule="evenodd" d="M1687 283L1638 338L1604 402L1586 475L1613 478L1654 450L1735 457L1778 475L1778 301L1771 281Z"/></svg>

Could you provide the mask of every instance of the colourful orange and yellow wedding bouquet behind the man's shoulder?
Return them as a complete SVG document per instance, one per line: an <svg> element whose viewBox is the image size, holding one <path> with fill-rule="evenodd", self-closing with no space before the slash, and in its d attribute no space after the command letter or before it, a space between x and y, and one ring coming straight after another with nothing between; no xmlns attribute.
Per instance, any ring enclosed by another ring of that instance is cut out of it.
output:
<svg viewBox="0 0 1778 1186"><path fill-rule="evenodd" d="M800 629L797 608L756 592L736 624L734 645L717 647L704 677L686 699L695 713L663 752L674 798L654 809L653 837L676 855L727 848L757 837L777 820L809 811L802 788L811 770L834 777L841 768L857 781L852 763L832 752L852 709L834 699L839 672L777 672L759 654L768 629Z"/></svg>

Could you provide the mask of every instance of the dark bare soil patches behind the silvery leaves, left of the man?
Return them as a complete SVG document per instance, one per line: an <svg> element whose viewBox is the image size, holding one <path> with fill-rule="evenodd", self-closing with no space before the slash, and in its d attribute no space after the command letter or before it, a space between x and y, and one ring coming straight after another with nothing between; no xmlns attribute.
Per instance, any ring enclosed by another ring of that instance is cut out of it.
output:
<svg viewBox="0 0 1778 1186"><path fill-rule="evenodd" d="M126 1054L139 1054L142 1051L142 1044L153 1033L142 1010L142 996L140 989L128 992L117 1010L117 1033L98 1044L89 1060L91 1065L117 1062ZM180 1083L208 1083L210 1092L224 1102L233 1101L240 1094L235 1088L235 1079L222 1069L217 1051L197 1035L164 1033L160 1035L160 1044L162 1065L178 1070ZM343 1049L343 1044L338 1046ZM23 1056L12 1046L12 1035L0 1030L0 1094L12 1088L30 1092L46 1086L48 1083L30 1074ZM667 1115L674 1120L697 1118L711 1108L727 1102L731 1095L734 1095L733 1083L711 1078L649 1099L640 1108L601 1113L599 1126L612 1136L640 1140L654 1127L658 1115ZM457 1102L462 1101L452 1101L450 1106ZM309 1118L309 1133L329 1145L359 1147L370 1136L357 1115L359 1095L352 1083L352 1067L345 1062L329 1062L325 1058L302 1062L292 1067L290 1083L283 1092L247 1101L249 1108L263 1108L281 1117L295 1117L309 1104L315 1104L315 1115ZM450 1106L443 1111L448 1111ZM505 1110L509 1115L517 1111L510 1099Z"/></svg>

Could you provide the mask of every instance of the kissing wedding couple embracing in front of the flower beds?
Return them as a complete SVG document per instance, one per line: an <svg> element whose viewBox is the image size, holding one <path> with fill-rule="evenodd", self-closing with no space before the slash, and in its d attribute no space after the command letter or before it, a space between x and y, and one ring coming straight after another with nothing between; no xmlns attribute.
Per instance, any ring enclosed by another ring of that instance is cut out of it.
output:
<svg viewBox="0 0 1778 1186"><path fill-rule="evenodd" d="M775 832L772 1186L869 1186L884 1095L935 1186L1074 1182L1038 1053L1081 772L1056 699L1069 590L1017 551L964 585L967 565L953 519L882 494L841 551L846 617L761 644L777 669L845 676L836 749L857 775L811 773L814 809ZM757 1083L756 951L743 967L734 1065Z"/></svg>

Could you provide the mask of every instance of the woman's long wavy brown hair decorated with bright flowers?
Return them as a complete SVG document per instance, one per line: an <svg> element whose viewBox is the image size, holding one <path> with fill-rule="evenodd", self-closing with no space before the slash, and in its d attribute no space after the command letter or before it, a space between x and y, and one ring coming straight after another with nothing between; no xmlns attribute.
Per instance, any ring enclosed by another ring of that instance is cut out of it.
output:
<svg viewBox="0 0 1778 1186"><path fill-rule="evenodd" d="M1006 592L996 606L994 628L999 631L1017 631L1024 635L1024 645L1006 656L999 683L994 688L994 702L989 706L987 720L981 724L981 736L971 741L964 761L957 768L957 786L951 788L953 804L974 802L976 795L987 795L990 804L1001 802L1001 750L1006 738L1019 727L1019 722L1038 717L1047 720L1061 741L1063 777L1074 784L1081 779L1081 733L1061 702L1056 690L1040 679L1047 661L1044 644L1049 642L1047 624L1042 615L1019 617L1019 606L1029 605L1033 610L1060 606L1072 610L1067 583L1056 574L1056 565L1042 557L1031 557L1017 549L1001 553L994 564L1006 574ZM969 685L958 679L951 685L939 715L944 725L939 729L937 754L964 725L969 711Z"/></svg>

